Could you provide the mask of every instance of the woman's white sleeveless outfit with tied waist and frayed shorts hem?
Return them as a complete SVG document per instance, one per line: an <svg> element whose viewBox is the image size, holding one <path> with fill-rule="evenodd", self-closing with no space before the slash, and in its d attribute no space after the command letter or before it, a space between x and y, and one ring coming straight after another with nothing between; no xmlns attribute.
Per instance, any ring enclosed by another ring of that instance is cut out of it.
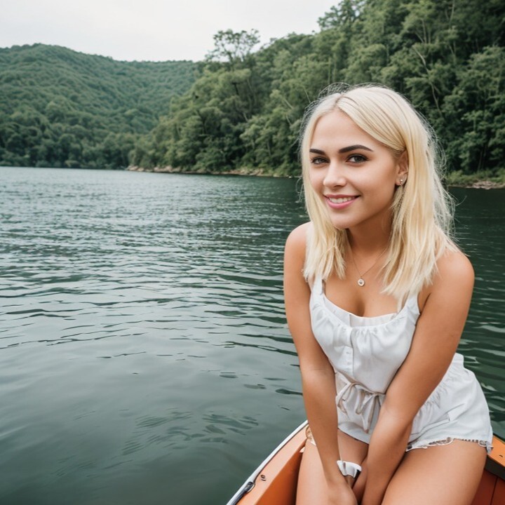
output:
<svg viewBox="0 0 505 505"><path fill-rule="evenodd" d="M417 296L396 314L361 317L330 302L320 278L311 289L312 331L335 370L339 429L370 443L389 384L410 350L419 318ZM454 355L443 379L417 412L407 450L450 443L454 438L491 449L487 403L460 354Z"/></svg>

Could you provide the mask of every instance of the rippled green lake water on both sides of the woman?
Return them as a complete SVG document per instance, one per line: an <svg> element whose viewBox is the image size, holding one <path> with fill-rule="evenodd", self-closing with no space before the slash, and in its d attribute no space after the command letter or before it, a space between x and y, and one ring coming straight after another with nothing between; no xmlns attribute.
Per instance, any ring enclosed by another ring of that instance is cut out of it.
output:
<svg viewBox="0 0 505 505"><path fill-rule="evenodd" d="M296 183L0 168L0 503L220 505L304 419ZM505 191L458 190L462 339L505 436Z"/></svg>

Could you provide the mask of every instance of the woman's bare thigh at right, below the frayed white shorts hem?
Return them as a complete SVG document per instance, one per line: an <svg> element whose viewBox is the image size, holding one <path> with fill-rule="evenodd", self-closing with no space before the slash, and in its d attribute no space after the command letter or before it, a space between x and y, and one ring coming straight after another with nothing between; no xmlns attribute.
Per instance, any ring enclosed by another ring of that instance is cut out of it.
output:
<svg viewBox="0 0 505 505"><path fill-rule="evenodd" d="M391 479L382 505L469 505L485 457L484 447L463 440L411 450Z"/></svg>

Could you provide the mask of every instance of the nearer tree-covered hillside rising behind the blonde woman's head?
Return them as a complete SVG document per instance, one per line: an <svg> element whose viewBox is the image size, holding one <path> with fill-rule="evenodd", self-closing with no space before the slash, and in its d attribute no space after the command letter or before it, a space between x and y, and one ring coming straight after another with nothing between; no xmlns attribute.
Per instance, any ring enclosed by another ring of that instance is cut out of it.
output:
<svg viewBox="0 0 505 505"><path fill-rule="evenodd" d="M254 32L220 32L201 75L132 161L297 175L305 107L330 83L372 81L429 119L449 170L504 175L504 19L502 0L342 0L317 34L291 34L256 53Z"/></svg>

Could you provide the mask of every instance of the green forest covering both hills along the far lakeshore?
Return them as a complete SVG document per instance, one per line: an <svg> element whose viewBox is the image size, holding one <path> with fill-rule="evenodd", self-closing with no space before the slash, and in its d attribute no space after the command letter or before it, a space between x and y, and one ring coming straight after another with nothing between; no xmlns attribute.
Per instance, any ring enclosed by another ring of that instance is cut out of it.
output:
<svg viewBox="0 0 505 505"><path fill-rule="evenodd" d="M203 62L0 49L0 164L298 175L307 105L332 83L403 93L453 173L505 175L502 0L341 0L320 31L255 50L214 36Z"/></svg>

